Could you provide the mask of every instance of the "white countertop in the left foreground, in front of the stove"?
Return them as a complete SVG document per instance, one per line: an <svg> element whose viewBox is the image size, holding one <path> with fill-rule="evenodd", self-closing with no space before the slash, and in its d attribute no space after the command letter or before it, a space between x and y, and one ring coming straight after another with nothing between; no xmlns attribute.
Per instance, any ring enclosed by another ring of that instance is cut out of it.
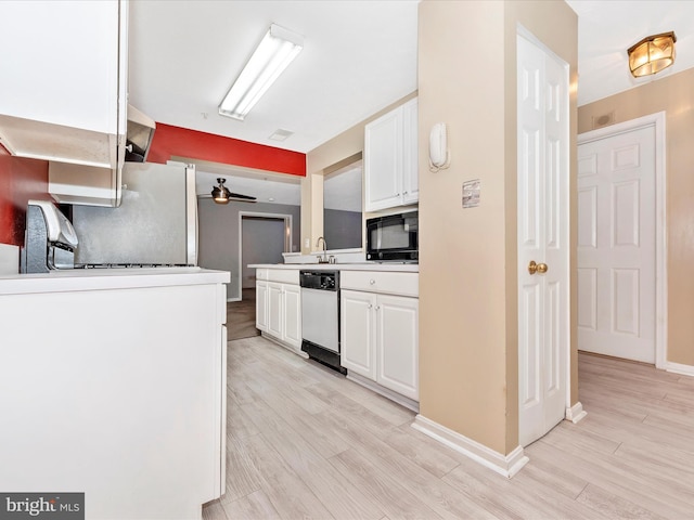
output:
<svg viewBox="0 0 694 520"><path fill-rule="evenodd" d="M0 276L0 296L74 290L227 284L227 271L202 268L74 269Z"/></svg>

